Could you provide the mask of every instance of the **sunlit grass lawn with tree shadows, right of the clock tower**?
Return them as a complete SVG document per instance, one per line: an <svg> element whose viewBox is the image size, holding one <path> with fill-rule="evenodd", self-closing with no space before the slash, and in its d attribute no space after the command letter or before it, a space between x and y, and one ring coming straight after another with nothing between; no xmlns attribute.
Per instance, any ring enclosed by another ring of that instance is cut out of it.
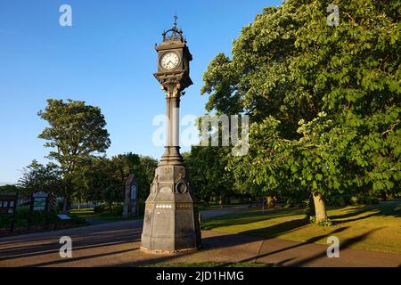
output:
<svg viewBox="0 0 401 285"><path fill-rule="evenodd" d="M309 224L301 208L274 208L217 216L202 229L326 244L329 236L342 246L401 254L401 199L371 206L329 208L330 227Z"/></svg>

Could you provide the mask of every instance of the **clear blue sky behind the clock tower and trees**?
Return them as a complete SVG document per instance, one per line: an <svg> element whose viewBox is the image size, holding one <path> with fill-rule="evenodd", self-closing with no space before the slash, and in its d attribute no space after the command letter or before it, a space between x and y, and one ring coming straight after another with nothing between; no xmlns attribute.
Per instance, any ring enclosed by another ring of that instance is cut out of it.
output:
<svg viewBox="0 0 401 285"><path fill-rule="evenodd" d="M181 114L200 116L202 74L263 7L279 0L0 0L0 183L15 183L20 169L49 150L37 135L47 98L99 106L107 120L113 156L124 152L159 159L152 143L155 115L165 97L152 76L161 31L184 29L193 55L192 81ZM72 27L59 25L59 7L72 7ZM187 151L184 149L184 151Z"/></svg>

